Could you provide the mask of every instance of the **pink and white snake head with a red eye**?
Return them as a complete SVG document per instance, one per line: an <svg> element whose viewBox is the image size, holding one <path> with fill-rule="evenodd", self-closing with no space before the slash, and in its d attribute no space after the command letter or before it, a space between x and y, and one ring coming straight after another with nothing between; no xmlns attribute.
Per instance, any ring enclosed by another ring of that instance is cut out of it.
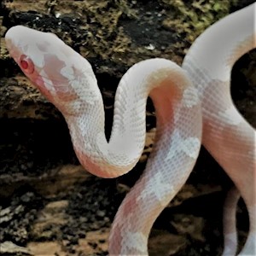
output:
<svg viewBox="0 0 256 256"><path fill-rule="evenodd" d="M98 97L90 63L55 34L13 26L5 41L26 77L62 113L77 114L78 104L93 103Z"/></svg>

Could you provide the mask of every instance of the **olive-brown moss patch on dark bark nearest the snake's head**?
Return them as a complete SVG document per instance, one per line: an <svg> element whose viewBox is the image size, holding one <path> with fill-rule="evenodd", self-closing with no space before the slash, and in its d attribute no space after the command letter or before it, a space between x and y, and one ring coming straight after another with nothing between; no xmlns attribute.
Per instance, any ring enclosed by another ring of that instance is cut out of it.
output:
<svg viewBox="0 0 256 256"><path fill-rule="evenodd" d="M115 54L125 52L131 40L119 26L119 19L124 16L128 19L136 17L136 11L128 2L84 1L82 11L90 24L84 27L88 37L86 44L80 48L82 54L90 57L100 55L103 60L108 60Z"/></svg>

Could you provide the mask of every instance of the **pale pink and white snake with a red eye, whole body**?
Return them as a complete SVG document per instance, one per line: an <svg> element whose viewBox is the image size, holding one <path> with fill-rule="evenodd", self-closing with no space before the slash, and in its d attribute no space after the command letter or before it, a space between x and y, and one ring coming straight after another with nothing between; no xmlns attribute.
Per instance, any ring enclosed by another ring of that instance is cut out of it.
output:
<svg viewBox="0 0 256 256"><path fill-rule="evenodd" d="M250 227L239 255L255 255L255 131L230 96L235 61L256 47L256 4L210 26L196 39L182 67L165 59L141 61L119 82L109 142L102 96L90 63L51 33L14 26L6 33L10 55L61 110L79 161L100 177L118 177L136 165L145 142L145 107L153 99L157 133L146 170L119 207L109 236L110 255L148 255L148 234L181 189L201 142L237 190L224 213L224 255L236 254L239 195ZM239 191L239 192L237 192Z"/></svg>

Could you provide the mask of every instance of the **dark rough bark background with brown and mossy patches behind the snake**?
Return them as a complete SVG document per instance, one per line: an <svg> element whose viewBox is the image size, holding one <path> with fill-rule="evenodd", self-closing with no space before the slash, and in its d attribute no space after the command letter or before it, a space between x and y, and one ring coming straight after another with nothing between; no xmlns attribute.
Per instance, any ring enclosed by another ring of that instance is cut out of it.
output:
<svg viewBox="0 0 256 256"><path fill-rule="evenodd" d="M236 3L236 2L239 2ZM0 254L107 255L119 203L143 172L154 138L148 101L148 139L135 170L112 180L92 177L73 153L61 114L20 73L3 37L18 24L55 32L92 64L112 125L113 96L128 67L150 57L181 63L186 49L212 22L253 1L28 1L0 3ZM185 4L186 3L186 4ZM232 73L237 108L256 125L256 54ZM253 86L254 85L254 86ZM222 206L231 183L202 148L195 170L154 224L150 255L219 255ZM241 244L247 212L238 209Z"/></svg>

